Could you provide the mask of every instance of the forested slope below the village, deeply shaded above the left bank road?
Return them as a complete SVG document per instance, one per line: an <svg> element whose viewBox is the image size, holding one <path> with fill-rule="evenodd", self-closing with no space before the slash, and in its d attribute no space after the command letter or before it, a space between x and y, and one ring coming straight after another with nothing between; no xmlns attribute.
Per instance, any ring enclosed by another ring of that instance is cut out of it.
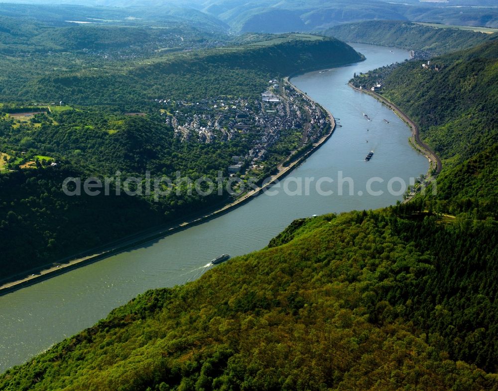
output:
<svg viewBox="0 0 498 391"><path fill-rule="evenodd" d="M218 170L226 174L232 156L249 148L249 140L243 138L216 145L182 144L153 115L68 110L45 119L57 124L44 122L33 130L0 121L0 151L10 154L8 166L14 169L0 174L2 280L141 229L174 222L217 206L228 196L201 197L195 191L189 195L179 185L180 194L175 188L156 202L153 192L143 197L113 196L113 180L111 196L68 197L62 192L65 178L115 178L117 171L119 178L135 176L142 183L146 171L171 180L176 171L192 181L216 178ZM27 152L22 154L21 149ZM55 160L57 166L47 165L42 156ZM30 161L36 167L19 169Z"/></svg>

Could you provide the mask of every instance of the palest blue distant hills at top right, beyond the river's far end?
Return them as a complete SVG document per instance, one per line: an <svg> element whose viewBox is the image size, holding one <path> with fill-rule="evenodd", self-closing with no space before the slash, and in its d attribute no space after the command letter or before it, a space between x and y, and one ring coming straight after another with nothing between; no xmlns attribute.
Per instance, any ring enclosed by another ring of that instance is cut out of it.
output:
<svg viewBox="0 0 498 391"><path fill-rule="evenodd" d="M237 0L200 1L197 7L238 32L312 31L363 20L413 20L464 26L498 27L496 8L465 8L455 2L367 0Z"/></svg>

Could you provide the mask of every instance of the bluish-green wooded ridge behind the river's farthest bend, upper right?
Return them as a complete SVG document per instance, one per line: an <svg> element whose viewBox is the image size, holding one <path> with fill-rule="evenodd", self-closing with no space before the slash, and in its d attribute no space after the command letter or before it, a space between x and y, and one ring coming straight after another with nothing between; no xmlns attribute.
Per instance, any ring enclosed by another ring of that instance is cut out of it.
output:
<svg viewBox="0 0 498 391"><path fill-rule="evenodd" d="M401 49L422 50L433 55L471 48L497 38L457 28L436 28L409 21L369 20L334 26L324 32L345 42L359 42Z"/></svg>

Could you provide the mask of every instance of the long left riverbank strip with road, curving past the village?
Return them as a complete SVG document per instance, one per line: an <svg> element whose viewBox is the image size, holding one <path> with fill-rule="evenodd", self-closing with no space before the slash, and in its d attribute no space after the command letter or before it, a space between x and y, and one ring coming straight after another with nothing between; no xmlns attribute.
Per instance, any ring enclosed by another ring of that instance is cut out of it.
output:
<svg viewBox="0 0 498 391"><path fill-rule="evenodd" d="M278 164L276 167L278 172L271 177L269 177L265 182L263 182L260 186L257 188L249 191L246 194L243 194L240 196L238 199L234 200L233 202L224 205L220 209L217 209L211 213L208 213L204 216L197 216L193 217L189 220L186 220L182 223L179 224L174 224L174 225L169 225L169 226L164 226L160 229L157 229L155 231L148 231L146 233L142 232L133 236L130 236L129 239L124 239L119 242L115 242L115 244L109 244L107 248L102 248L99 251L96 251L94 254L88 254L82 257L78 257L75 259L69 260L66 258L67 261L63 261L63 263L58 264L56 266L53 266L51 264L50 266L47 266L46 269L42 270L41 272L38 272L36 274L32 274L29 277L22 278L13 282L5 283L4 285L0 286L0 296L5 295L7 293L14 292L18 289L25 288L27 286L36 284L38 282L47 280L49 278L55 277L57 275L66 273L68 271L74 270L76 268L97 262L99 260L105 259L107 257L110 257L112 255L118 254L120 252L124 252L126 250L130 250L134 247L137 247L139 245L146 244L152 240L157 240L162 237L165 237L167 235L172 235L174 233L186 230L187 228L190 228L192 226L198 225L205 223L209 220L212 220L214 218L217 218L225 213L228 213L232 211L235 208L238 208L245 203L249 202L252 198L257 197L259 194L262 194L265 189L267 189L269 186L277 182L278 180L282 179L285 177L292 169L294 169L296 166L298 166L301 162L303 162L306 158L308 158L311 154L313 154L317 149L320 148L329 138L332 136L334 133L334 130L336 128L336 121L334 116L330 113L329 110L326 110L324 107L322 107L320 104L317 102L313 101L308 95L306 95L304 92L302 92L299 88L297 88L295 85L293 85L290 81L289 78L284 78L284 82L287 83L290 87L294 88L298 93L302 94L303 98L308 100L309 102L313 102L315 105L320 107L324 112L327 113L328 120L330 122L330 130L322 136L322 138L314 143L312 147L306 151L302 156L297 158L296 160L292 161L289 163L287 166L283 166L283 162ZM294 153L294 152L293 152ZM292 154L288 156L284 161L286 161L288 158L292 157Z"/></svg>

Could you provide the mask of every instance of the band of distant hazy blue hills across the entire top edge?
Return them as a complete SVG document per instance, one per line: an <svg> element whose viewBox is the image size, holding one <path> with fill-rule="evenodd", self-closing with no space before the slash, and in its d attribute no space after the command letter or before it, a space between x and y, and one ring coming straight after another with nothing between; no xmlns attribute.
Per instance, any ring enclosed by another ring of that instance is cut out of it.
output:
<svg viewBox="0 0 498 391"><path fill-rule="evenodd" d="M493 0L371 1L371 0L44 0L26 4L0 4L5 16L28 16L51 25L67 25L68 20L99 24L169 26L172 22L195 23L209 31L285 33L317 31L343 23L364 20L412 20L463 26L498 27L498 11ZM90 6L69 5L87 4Z"/></svg>

